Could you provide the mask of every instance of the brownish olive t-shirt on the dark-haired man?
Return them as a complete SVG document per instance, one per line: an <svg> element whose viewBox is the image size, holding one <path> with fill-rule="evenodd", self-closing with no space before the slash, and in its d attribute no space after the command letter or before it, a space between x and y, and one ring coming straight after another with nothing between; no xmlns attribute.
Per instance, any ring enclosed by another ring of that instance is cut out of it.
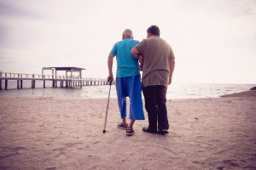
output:
<svg viewBox="0 0 256 170"><path fill-rule="evenodd" d="M149 37L135 48L143 55L143 87L161 85L168 87L170 60L174 59L171 46L160 37Z"/></svg>

